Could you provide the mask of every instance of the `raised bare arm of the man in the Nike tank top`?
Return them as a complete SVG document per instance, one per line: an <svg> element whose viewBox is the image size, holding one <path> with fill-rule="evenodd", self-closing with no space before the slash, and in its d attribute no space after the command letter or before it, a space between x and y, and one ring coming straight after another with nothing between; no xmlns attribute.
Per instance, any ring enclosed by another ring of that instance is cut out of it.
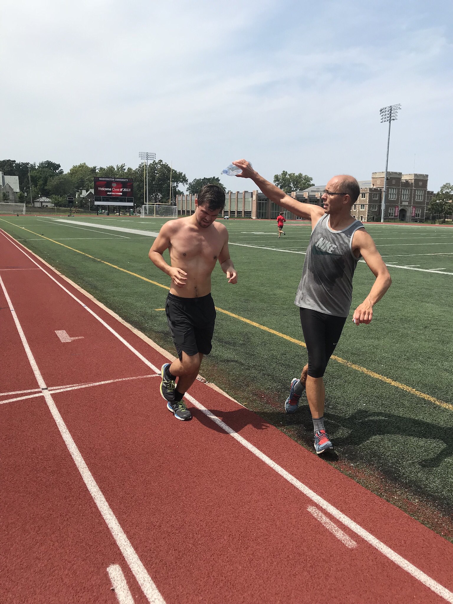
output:
<svg viewBox="0 0 453 604"><path fill-rule="evenodd" d="M275 204L281 205L296 216L306 218L312 221L312 228L315 228L316 222L324 215L324 210L319 205L304 204L300 201L296 201L294 198L287 195L284 191L275 187L272 182L266 181L263 176L260 176L256 170L254 170L248 161L245 159L238 159L233 162L238 168L242 170L241 174L237 174L237 178L250 178L257 187L260 188L268 199L271 199Z"/></svg>

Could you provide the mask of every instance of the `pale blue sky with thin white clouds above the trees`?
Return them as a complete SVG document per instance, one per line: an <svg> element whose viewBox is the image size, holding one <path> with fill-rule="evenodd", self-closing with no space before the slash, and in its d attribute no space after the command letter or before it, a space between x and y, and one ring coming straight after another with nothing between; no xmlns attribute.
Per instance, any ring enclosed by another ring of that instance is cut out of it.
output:
<svg viewBox="0 0 453 604"><path fill-rule="evenodd" d="M0 159L453 182L451 0L3 0ZM221 178L227 188L251 181Z"/></svg>

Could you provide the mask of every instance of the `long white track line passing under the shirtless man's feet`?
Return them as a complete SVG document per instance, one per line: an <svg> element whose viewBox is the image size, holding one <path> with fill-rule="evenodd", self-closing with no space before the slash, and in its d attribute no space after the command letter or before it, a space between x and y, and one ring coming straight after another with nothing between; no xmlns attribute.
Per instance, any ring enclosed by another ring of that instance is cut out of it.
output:
<svg viewBox="0 0 453 604"><path fill-rule="evenodd" d="M10 241L16 248L18 248L19 251L22 252L22 254L27 256L28 259L30 259L37 266L39 266L39 264L37 262L35 262L33 260L33 258L31 258L24 251L24 249L21 249L16 244L16 242L14 242L14 240L8 239L8 241ZM88 306L86 306L86 304L83 304L83 302L81 300L79 300L79 298L77 298L74 294L69 292L68 289L65 288L65 286L63 286L61 283L59 283L50 273L48 273L45 269L43 269L42 266L40 266L39 268L45 274L47 274L48 277L50 277L55 283L57 283L57 285L60 288L62 288L63 291L67 292L71 296L71 298L76 300L83 308L88 310L88 312L92 316L94 316L94 318L96 318L104 327L106 327L106 329L108 329L109 332L111 332L113 335L115 335L120 342L122 342L124 345L126 345L127 349L129 349L133 354L135 354L135 356L137 356L139 359L141 359L141 361L143 361L147 365L147 367L149 367L155 373L159 373L159 370L157 367L155 367L155 365L153 365L150 361L148 361L148 359L146 359L143 355L141 355L141 353L138 352L138 350L135 350L135 348L133 348L133 346L131 344L129 344L129 342L127 342L122 336L120 336L119 333L115 332L115 330L111 326L109 326L108 323L106 323L103 319L101 319L100 316L96 315L96 313L94 311L89 309ZM0 280L1 280L1 277L0 277ZM47 394L49 394L49 393L47 393ZM49 396L50 396L50 394L49 394ZM352 519L350 519L348 516L346 516L344 513L337 510L336 507L332 506L332 504L330 504L328 501L324 500L320 495L315 493L313 490L309 489L309 487L307 487L305 484L301 483L300 480L297 480L297 478L292 476L292 474L289 474L289 472L284 470L283 467L281 467L277 463L275 463L274 460L272 460L270 457L268 457L266 454L264 454L262 451L260 451L257 447L255 447L254 445L249 443L248 440L244 439L240 434L237 434L237 432L235 432L233 430L233 428L230 428L230 426L226 425L225 422L222 422L222 420L219 419L217 416L214 416L214 414L211 413L211 411L209 411L201 403L199 403L198 400L194 399L193 396L186 393L185 397L188 400L190 400L190 402L194 406L196 406L196 408L198 408L200 411L202 411L202 413L204 413L205 416L207 416L214 423L216 423L217 426L222 428L223 431L225 431L227 434L230 434L237 442L239 442L242 446L244 446L246 449L248 449L248 451L250 451L257 458L262 460L266 465L271 467L275 472L277 472L277 474L279 474L281 477L283 477L285 480L287 480L296 489L300 490L300 492L303 493L304 495L306 495L307 498L312 500L319 507L322 507L331 516L333 516L334 518L336 518L337 520L342 522L342 524L344 524L350 530L352 530L353 533L356 533L356 535L361 536L362 539L364 539L365 541L368 542L368 544L370 544L372 547L376 548L377 551L381 552L382 554L384 554L384 556L388 557L388 559L390 559L392 562L394 562L394 564L396 564L397 566L399 566L400 568L405 570L408 574L413 576L414 579L417 579L420 583L423 583L423 585L426 585L426 587L428 587L430 590L434 591L434 593L443 597L443 599L445 599L450 604L453 604L453 593L451 591L449 591L446 587L444 587L443 585L441 585L439 582L435 581L434 579L431 579L431 577L429 577L427 574L423 573L422 570L420 570L415 565L411 564L411 562L407 561L405 558L403 558L402 556L397 554L396 551L392 550L390 547L388 547L387 545L382 543L382 541L379 541L379 539L374 537L374 535L371 535L371 533L368 533L368 531L365 530L365 528L362 528L361 525L357 524Z"/></svg>

